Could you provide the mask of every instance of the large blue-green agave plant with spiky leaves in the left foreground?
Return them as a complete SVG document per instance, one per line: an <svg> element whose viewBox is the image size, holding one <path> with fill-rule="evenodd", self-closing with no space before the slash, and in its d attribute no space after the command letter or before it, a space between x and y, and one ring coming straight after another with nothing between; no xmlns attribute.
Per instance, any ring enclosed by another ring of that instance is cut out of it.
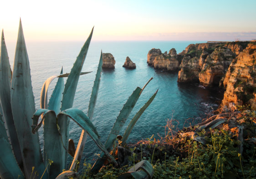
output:
<svg viewBox="0 0 256 179"><path fill-rule="evenodd" d="M118 165L113 156L109 154L109 151L112 149L117 135L148 83L143 88L137 87L128 98L128 101L124 104L117 117L106 144L102 145L96 127L91 122L102 72L102 54L92 87L87 115L79 109L72 108L78 79L80 75L89 73L81 73L81 71L92 39L92 32L93 28L77 56L71 72L62 74L61 69L60 75L49 77L46 80L41 90L41 109L37 111L35 109L30 66L21 21L15 50L13 73L10 69L9 57L2 32L0 53L0 142L2 152L0 155L0 178L31 178L32 174L33 176L37 174L42 178L56 178L66 167L67 155L71 153L69 149L75 150L72 142L69 142L70 119L74 120L83 130L76 152L72 156L73 161L70 170L73 170L78 163L77 161L80 161L82 158L87 135L90 135L95 144L102 150L100 158L92 168L94 172L98 171L104 160L111 160L113 164ZM58 77L58 81L49 103L47 103L49 84L56 77ZM65 86L63 77L67 77ZM133 117L123 136L123 143L126 142L139 116L153 101L156 94L157 92ZM41 121L38 122L40 116ZM42 124L44 135L43 157L37 132Z"/></svg>

